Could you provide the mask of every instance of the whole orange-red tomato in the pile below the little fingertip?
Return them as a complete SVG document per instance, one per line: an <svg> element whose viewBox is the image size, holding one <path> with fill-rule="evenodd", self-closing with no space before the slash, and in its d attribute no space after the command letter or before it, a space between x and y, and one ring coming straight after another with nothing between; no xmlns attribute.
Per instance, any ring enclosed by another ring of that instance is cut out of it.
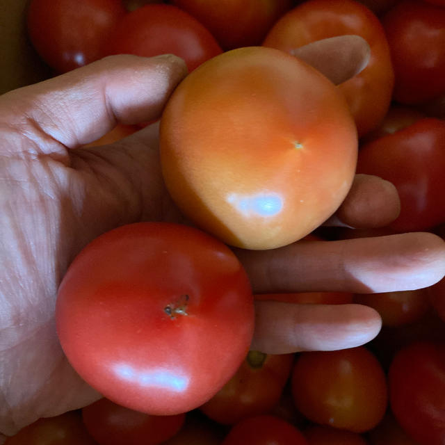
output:
<svg viewBox="0 0 445 445"><path fill-rule="evenodd" d="M309 420L353 432L376 426L387 407L385 373L364 347L301 353L292 394Z"/></svg>

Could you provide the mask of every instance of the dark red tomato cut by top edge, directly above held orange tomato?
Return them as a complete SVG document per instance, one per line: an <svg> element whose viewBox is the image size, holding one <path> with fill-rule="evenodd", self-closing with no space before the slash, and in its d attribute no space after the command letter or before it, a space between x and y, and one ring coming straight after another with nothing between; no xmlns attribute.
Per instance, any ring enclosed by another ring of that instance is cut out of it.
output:
<svg viewBox="0 0 445 445"><path fill-rule="evenodd" d="M292 0L173 0L211 31L224 49L261 44Z"/></svg>

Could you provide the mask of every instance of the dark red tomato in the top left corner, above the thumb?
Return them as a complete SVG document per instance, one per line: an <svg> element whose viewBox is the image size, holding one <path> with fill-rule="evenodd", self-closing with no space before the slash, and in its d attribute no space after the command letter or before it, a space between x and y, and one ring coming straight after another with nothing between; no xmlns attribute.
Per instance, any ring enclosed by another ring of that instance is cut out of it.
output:
<svg viewBox="0 0 445 445"><path fill-rule="evenodd" d="M32 0L29 37L48 65L67 72L104 56L106 40L126 13L121 0Z"/></svg>

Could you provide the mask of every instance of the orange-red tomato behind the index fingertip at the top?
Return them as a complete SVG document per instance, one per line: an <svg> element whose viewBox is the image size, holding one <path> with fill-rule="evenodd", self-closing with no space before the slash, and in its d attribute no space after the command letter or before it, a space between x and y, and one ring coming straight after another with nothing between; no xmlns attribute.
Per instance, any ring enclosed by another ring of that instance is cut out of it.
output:
<svg viewBox="0 0 445 445"><path fill-rule="evenodd" d="M384 118L394 84L385 32L368 8L353 0L305 1L278 20L264 45L289 52L315 40L345 34L360 35L371 47L368 66L339 86L362 136Z"/></svg>

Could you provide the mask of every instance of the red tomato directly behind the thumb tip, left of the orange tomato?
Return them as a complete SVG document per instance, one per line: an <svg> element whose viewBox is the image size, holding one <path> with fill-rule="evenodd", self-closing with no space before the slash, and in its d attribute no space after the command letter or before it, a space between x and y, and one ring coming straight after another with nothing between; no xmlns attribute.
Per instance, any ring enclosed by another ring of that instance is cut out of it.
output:
<svg viewBox="0 0 445 445"><path fill-rule="evenodd" d="M108 54L175 54L189 71L223 50L194 17L171 5L146 5L127 14L111 36Z"/></svg>

